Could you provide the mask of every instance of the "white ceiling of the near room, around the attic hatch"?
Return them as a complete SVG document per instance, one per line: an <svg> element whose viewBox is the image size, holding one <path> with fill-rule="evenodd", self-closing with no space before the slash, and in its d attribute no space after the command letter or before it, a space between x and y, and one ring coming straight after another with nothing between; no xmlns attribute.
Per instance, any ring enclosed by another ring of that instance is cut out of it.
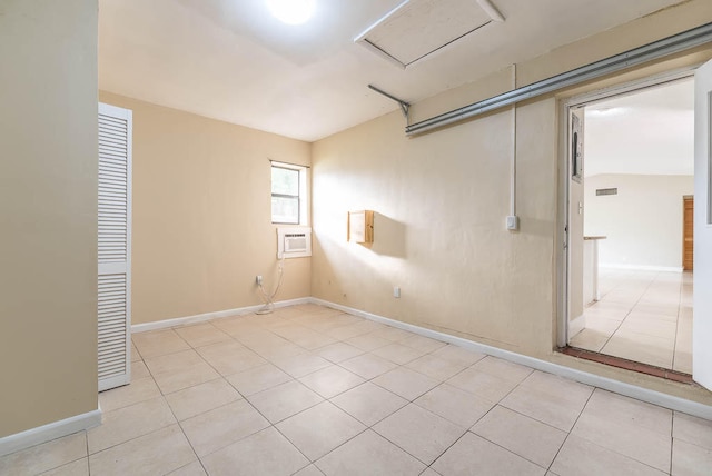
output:
<svg viewBox="0 0 712 476"><path fill-rule="evenodd" d="M99 0L99 88L314 141L397 109L368 83L414 102L684 0L493 0L504 22L405 70L353 41L400 2L287 26L264 0Z"/></svg>

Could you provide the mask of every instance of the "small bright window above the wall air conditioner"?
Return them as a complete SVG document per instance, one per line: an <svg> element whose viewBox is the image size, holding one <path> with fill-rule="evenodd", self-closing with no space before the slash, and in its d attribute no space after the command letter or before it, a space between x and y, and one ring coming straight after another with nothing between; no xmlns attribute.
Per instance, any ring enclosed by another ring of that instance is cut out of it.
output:
<svg viewBox="0 0 712 476"><path fill-rule="evenodd" d="M271 222L306 225L306 168L271 165Z"/></svg>

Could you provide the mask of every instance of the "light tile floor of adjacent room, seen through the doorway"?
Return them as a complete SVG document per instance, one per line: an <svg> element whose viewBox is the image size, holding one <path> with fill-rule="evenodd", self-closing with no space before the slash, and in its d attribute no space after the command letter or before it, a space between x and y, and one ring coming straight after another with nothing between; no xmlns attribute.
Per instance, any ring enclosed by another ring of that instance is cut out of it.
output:
<svg viewBox="0 0 712 476"><path fill-rule="evenodd" d="M602 269L582 349L692 374L692 272Z"/></svg>

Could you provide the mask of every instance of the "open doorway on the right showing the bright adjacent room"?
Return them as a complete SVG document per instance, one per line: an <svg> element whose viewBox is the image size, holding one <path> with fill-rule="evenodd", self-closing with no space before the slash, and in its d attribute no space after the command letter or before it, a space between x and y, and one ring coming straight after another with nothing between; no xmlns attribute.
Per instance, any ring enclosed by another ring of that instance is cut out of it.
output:
<svg viewBox="0 0 712 476"><path fill-rule="evenodd" d="M566 105L568 354L692 374L692 72Z"/></svg>

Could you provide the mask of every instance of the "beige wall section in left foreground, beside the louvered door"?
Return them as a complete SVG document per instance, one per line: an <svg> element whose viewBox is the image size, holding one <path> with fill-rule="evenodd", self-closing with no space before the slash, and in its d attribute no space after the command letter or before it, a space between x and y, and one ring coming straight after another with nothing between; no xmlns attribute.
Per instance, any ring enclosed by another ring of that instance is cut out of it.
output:
<svg viewBox="0 0 712 476"><path fill-rule="evenodd" d="M97 1L0 0L0 437L97 409Z"/></svg>

